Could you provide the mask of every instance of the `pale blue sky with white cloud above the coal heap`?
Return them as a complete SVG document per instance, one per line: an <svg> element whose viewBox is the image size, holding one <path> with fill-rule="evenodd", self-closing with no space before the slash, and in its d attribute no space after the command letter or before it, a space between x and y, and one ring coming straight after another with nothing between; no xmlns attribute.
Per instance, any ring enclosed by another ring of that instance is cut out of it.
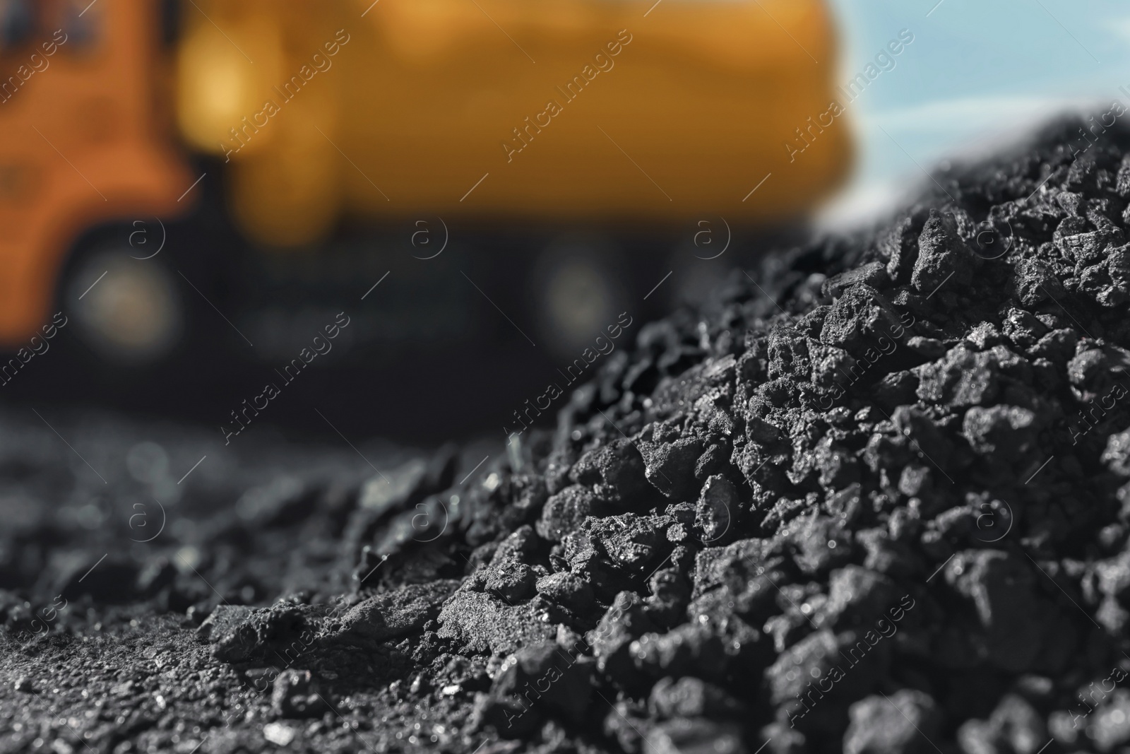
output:
<svg viewBox="0 0 1130 754"><path fill-rule="evenodd" d="M841 81L861 71L899 29L915 37L896 67L850 105L859 165L849 190L826 213L834 219L905 197L911 184L925 180L915 161L929 168L948 156L989 149L1063 110L1106 105L1114 97L1130 107L1130 96L1119 90L1130 90L1125 2L829 3L844 42Z"/></svg>

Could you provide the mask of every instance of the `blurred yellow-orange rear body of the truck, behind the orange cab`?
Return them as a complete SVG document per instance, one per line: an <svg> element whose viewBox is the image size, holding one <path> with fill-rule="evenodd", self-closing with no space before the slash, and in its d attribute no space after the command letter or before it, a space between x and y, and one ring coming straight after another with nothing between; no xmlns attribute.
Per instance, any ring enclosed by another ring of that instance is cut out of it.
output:
<svg viewBox="0 0 1130 754"><path fill-rule="evenodd" d="M234 214L267 243L313 241L346 215L781 220L849 164L840 123L802 158L784 147L833 97L819 0L195 0L185 14L181 129L232 163Z"/></svg>

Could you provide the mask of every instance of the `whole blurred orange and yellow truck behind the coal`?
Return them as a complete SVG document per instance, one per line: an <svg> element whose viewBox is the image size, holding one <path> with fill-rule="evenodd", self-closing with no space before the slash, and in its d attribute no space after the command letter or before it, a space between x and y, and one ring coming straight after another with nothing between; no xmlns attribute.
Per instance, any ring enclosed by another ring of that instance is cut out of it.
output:
<svg viewBox="0 0 1130 754"><path fill-rule="evenodd" d="M570 348L838 185L835 46L822 0L0 0L0 346L286 354L318 301L466 338L485 298Z"/></svg>

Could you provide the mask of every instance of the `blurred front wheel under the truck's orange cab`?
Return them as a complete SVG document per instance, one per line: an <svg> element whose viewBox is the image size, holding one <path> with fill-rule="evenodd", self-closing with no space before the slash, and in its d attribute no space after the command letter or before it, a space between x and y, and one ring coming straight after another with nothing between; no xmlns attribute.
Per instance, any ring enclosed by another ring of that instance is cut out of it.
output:
<svg viewBox="0 0 1130 754"><path fill-rule="evenodd" d="M168 357L185 331L184 300L159 257L129 248L82 254L63 291L82 344L111 367L145 369Z"/></svg>

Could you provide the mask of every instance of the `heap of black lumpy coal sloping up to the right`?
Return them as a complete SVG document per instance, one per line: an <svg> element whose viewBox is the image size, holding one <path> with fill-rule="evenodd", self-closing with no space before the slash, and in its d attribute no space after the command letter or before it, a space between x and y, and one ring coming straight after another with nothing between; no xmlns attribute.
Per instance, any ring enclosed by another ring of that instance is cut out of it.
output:
<svg viewBox="0 0 1130 754"><path fill-rule="evenodd" d="M271 513L347 593L162 631L263 681L260 746L1124 751L1130 135L1078 125L644 326L467 479Z"/></svg>

